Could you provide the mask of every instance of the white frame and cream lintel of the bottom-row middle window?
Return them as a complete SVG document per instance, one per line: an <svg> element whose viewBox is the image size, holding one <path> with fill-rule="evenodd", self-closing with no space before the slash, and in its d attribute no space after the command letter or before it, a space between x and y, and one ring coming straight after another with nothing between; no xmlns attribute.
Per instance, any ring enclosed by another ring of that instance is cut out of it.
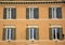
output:
<svg viewBox="0 0 65 45"><path fill-rule="evenodd" d="M35 31L38 31L38 30L35 30L35 29L38 29L38 26L27 26L28 30L29 30L29 38L28 40L29 41L35 41L37 40L34 35L36 34L37 36L37 33L35 33ZM30 34L31 33L31 34ZM32 35L32 36L31 36Z"/></svg>

